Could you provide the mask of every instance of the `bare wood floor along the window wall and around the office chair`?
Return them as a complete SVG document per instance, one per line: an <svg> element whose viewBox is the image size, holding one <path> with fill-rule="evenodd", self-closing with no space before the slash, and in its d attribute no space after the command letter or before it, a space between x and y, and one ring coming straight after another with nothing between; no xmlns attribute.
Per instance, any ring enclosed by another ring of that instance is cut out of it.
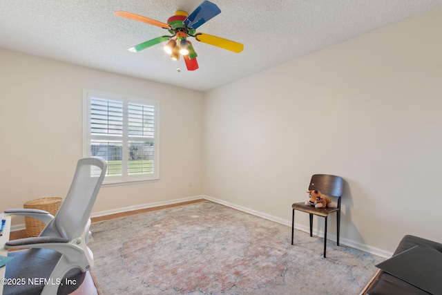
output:
<svg viewBox="0 0 442 295"><path fill-rule="evenodd" d="M166 208L171 208L171 207L177 207L177 206L182 206L182 205L186 205L186 204L193 204L193 203L198 203L198 202L204 202L204 201L205 200L193 200L193 201L188 201L188 202L180 202L180 203L169 204L169 205L165 205L165 206L152 207L152 208L146 208L146 209L140 209L140 210L127 211L127 212L123 212L123 213L111 214L108 216L100 216L100 217L90 218L90 220L92 222L99 222L99 221L104 221L104 220L111 220L113 218L132 216L135 214L146 213L146 212L150 212L150 211L166 209ZM19 238L26 238L26 231L25 230L12 231L10 233L10 240L16 240ZM75 292L71 293L70 295L98 295L98 294L99 293L97 291L97 287L95 287L93 277L90 275L89 272L87 272L86 278L84 278L84 281L81 284L81 286L77 290L75 290Z"/></svg>

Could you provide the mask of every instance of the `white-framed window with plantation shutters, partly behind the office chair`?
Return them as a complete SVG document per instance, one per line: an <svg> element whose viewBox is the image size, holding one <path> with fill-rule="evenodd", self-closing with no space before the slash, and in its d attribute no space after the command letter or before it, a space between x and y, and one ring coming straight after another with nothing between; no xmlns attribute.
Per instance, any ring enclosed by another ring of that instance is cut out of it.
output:
<svg viewBox="0 0 442 295"><path fill-rule="evenodd" d="M104 183L157 180L159 102L84 91L84 156L108 162Z"/></svg>

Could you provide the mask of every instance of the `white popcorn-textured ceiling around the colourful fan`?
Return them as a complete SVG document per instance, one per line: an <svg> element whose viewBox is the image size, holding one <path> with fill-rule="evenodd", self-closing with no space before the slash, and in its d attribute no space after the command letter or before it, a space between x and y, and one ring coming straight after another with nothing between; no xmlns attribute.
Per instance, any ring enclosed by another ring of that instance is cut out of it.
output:
<svg viewBox="0 0 442 295"><path fill-rule="evenodd" d="M193 41L200 66L193 72L183 59L167 56L161 44L129 52L167 31L113 12L167 22L176 10L190 13L202 0L2 0L0 48L207 91L442 6L442 0L213 2L221 14L197 31L238 41L244 50L232 53Z"/></svg>

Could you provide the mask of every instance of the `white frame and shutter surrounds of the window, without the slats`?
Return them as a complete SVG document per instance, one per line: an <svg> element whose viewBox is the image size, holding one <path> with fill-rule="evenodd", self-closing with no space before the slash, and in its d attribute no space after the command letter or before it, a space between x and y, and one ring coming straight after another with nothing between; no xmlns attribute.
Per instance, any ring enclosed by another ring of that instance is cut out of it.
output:
<svg viewBox="0 0 442 295"><path fill-rule="evenodd" d="M83 156L91 157L91 142L101 135L91 134L91 98L105 99L123 103L123 132L121 136L102 135L103 140L118 140L122 142L122 146L128 145L133 140L143 140L153 142L153 173L142 173L128 175L127 160L122 159L122 169L125 171L122 175L108 175L104 178L103 184L130 184L133 182L154 182L160 180L160 102L156 99L146 97L135 97L131 95L122 95L118 93L109 93L105 91L95 91L91 89L83 89ZM141 104L144 106L153 106L154 108L154 127L153 137L140 137L137 135L128 135L128 104ZM125 155L123 153L123 155ZM124 156L123 156L124 158ZM126 162L126 163L125 163Z"/></svg>

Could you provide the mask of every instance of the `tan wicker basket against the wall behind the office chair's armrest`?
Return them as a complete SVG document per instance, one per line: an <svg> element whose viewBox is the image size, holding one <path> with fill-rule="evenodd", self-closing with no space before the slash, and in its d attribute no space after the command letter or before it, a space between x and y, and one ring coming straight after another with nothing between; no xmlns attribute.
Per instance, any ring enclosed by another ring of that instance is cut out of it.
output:
<svg viewBox="0 0 442 295"><path fill-rule="evenodd" d="M23 204L25 209L39 209L48 211L50 214L55 216L58 209L60 208L62 198L40 198L36 200L30 200ZM37 218L25 217L26 224L26 236L39 236L41 231L46 227L44 222L41 222Z"/></svg>

